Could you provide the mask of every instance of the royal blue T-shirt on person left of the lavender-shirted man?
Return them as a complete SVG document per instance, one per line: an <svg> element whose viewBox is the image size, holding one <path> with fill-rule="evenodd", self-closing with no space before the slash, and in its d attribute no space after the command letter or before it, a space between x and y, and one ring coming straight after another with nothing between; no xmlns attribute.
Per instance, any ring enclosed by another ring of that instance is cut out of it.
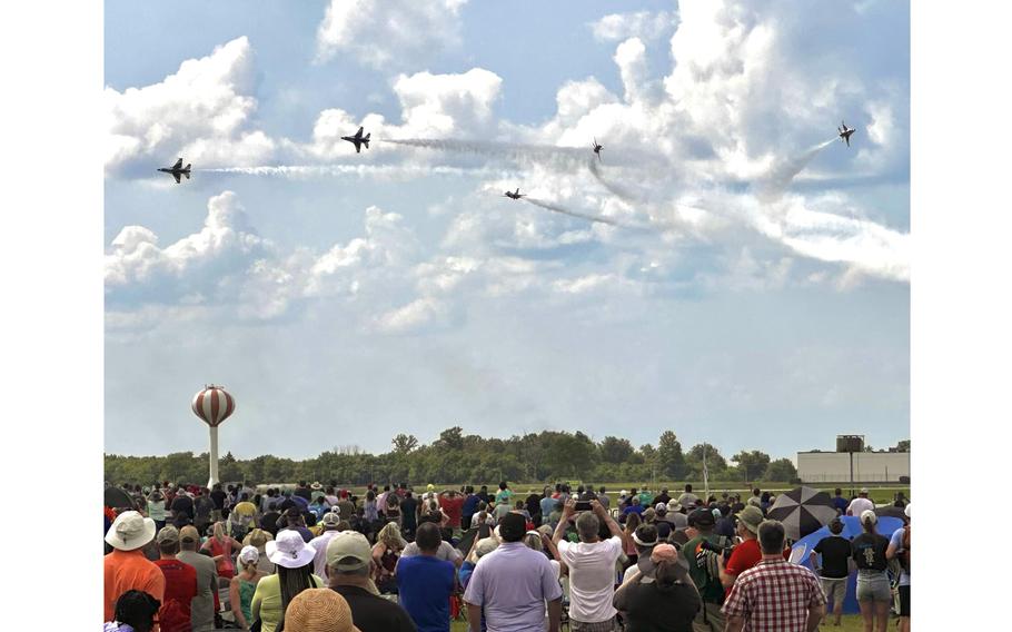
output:
<svg viewBox="0 0 1012 632"><path fill-rule="evenodd" d="M397 563L400 606L411 615L418 632L449 632L455 574L453 563L429 555L401 557Z"/></svg>

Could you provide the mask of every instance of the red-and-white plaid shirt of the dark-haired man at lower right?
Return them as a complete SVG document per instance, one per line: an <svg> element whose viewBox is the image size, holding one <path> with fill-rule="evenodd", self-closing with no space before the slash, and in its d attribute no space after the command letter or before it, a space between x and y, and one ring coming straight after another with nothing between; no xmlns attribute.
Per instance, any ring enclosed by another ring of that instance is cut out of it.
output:
<svg viewBox="0 0 1012 632"><path fill-rule="evenodd" d="M722 612L744 618L744 632L805 632L808 609L825 602L815 573L783 560L762 560L738 575Z"/></svg>

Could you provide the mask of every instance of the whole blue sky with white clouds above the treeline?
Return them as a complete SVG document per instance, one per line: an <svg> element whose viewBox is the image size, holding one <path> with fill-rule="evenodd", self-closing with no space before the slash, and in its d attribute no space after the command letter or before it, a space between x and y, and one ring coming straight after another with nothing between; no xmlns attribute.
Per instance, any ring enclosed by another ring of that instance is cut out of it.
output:
<svg viewBox="0 0 1012 632"><path fill-rule="evenodd" d="M905 3L335 6L106 3L108 452L909 437Z"/></svg>

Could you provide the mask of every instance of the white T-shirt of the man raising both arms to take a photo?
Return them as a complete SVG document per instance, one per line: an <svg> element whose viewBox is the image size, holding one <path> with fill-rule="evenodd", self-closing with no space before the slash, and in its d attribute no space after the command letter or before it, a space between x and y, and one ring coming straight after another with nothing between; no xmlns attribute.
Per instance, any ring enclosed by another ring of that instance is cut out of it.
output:
<svg viewBox="0 0 1012 632"><path fill-rule="evenodd" d="M612 606L615 596L615 562L622 555L622 539L617 535L602 542L558 543L558 554L569 566L569 616L581 623L607 621L617 612Z"/></svg>

